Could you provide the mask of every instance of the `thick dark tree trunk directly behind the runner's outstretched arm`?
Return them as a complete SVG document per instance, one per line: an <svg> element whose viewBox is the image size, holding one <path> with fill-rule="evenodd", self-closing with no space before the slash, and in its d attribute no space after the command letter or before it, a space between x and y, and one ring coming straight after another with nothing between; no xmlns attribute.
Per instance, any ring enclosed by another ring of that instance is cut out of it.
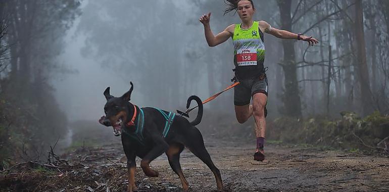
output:
<svg viewBox="0 0 389 192"><path fill-rule="evenodd" d="M277 4L281 13L281 28L291 31L291 1L279 0ZM301 101L299 84L297 82L294 41L282 40L282 46L284 54L282 69L285 75L285 90L283 93L285 113L293 117L301 117Z"/></svg>

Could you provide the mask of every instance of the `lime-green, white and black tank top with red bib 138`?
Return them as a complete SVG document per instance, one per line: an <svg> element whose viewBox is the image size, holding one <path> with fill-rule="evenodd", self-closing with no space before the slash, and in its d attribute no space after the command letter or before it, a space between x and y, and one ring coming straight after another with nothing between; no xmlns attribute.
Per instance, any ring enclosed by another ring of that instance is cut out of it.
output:
<svg viewBox="0 0 389 192"><path fill-rule="evenodd" d="M232 42L234 71L238 78L259 77L264 73L265 44L258 21L254 21L249 29L242 29L241 24L235 24Z"/></svg>

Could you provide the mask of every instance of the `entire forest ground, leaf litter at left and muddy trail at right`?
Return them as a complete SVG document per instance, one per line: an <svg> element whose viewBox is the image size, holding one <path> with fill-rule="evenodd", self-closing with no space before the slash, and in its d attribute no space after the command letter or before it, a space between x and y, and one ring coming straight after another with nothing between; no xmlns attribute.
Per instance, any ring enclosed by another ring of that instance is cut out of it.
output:
<svg viewBox="0 0 389 192"><path fill-rule="evenodd" d="M0 174L0 191L125 191L128 184L120 139L98 148L79 148L62 156L67 169L28 166ZM347 152L268 143L266 160L253 160L254 141L212 139L205 145L219 168L225 191L389 191L389 158L380 154ZM151 165L159 177L146 177L137 159L138 191L181 191L181 182L166 155ZM181 154L190 191L214 191L215 178L196 156Z"/></svg>

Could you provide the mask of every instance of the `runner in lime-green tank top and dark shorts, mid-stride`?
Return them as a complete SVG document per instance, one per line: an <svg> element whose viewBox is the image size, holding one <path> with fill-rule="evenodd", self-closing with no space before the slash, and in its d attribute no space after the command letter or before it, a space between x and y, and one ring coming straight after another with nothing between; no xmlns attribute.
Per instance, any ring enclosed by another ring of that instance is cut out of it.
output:
<svg viewBox="0 0 389 192"><path fill-rule="evenodd" d="M240 24L232 24L216 36L210 27L211 13L200 17L204 25L205 37L209 46L216 46L232 38L234 45L235 77L240 82L234 87L235 115L239 123L246 122L251 116L255 119L255 135L257 148L254 160L265 159L265 114L268 83L264 69L265 44L263 32L282 39L297 39L314 45L318 41L312 36L295 34L271 27L266 21L254 21L254 2L252 0L226 0L228 8L224 15L236 11L241 20ZM253 104L250 105L251 98Z"/></svg>

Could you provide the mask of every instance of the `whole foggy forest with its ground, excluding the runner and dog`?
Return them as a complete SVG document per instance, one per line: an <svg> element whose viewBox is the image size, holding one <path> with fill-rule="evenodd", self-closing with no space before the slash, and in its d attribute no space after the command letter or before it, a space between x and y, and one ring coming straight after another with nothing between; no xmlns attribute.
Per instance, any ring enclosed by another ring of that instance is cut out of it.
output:
<svg viewBox="0 0 389 192"><path fill-rule="evenodd" d="M256 120L237 121L234 88L204 104L196 127L224 191L387 190L389 1L253 2L254 21L319 43L263 33L265 161L253 160ZM231 85L232 38L211 47L199 22L212 13L215 35L241 23L226 7L0 0L0 191L135 191L124 133L121 140L98 121L103 92L121 97L131 82L131 105L175 113L190 95L204 101ZM189 191L216 190L215 173L191 152L180 159ZM136 158L137 191L187 191L168 155L151 162L159 177L145 175Z"/></svg>

